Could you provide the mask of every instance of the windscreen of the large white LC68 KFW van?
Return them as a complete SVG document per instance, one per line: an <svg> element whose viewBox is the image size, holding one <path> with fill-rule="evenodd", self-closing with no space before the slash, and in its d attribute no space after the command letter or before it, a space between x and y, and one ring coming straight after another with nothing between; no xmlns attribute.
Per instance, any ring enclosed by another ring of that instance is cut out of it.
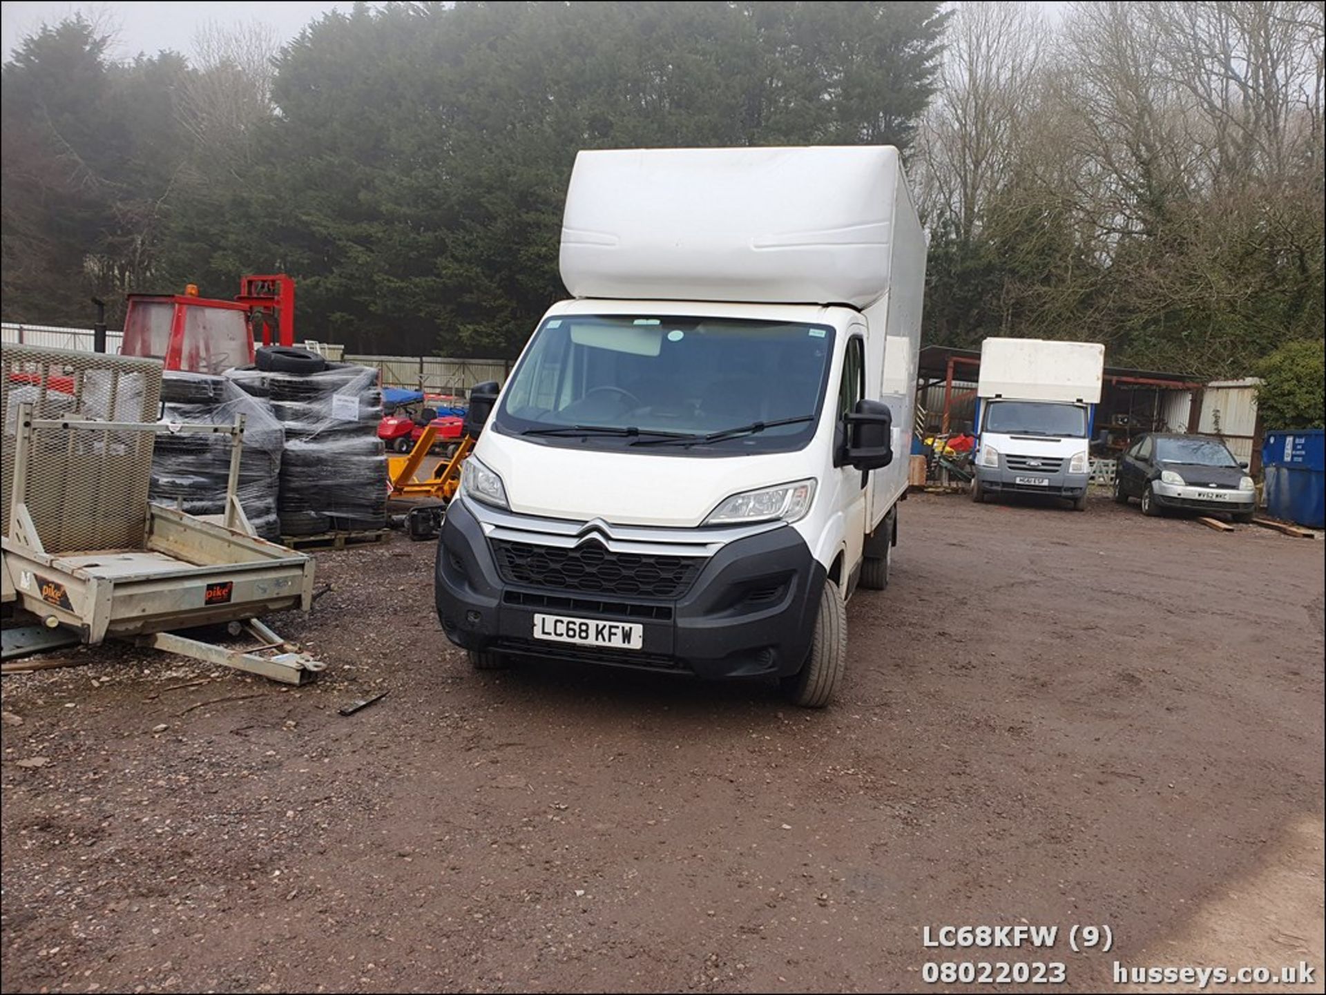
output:
<svg viewBox="0 0 1326 995"><path fill-rule="evenodd" d="M552 445L785 452L814 435L831 356L821 325L561 315L536 333L493 424Z"/></svg>

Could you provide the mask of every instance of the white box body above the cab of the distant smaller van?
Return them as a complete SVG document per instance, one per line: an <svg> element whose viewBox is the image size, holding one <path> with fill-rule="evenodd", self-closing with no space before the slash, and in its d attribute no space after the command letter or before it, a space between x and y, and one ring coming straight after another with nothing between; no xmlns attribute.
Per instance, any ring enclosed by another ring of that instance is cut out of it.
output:
<svg viewBox="0 0 1326 995"><path fill-rule="evenodd" d="M1103 375L1099 342L985 339L976 395L1098 404Z"/></svg>

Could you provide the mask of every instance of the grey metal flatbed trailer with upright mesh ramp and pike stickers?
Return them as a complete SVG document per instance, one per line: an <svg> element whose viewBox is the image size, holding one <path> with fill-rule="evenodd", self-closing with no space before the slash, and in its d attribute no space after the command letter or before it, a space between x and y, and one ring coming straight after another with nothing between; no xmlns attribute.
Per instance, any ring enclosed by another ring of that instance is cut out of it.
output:
<svg viewBox="0 0 1326 995"><path fill-rule="evenodd" d="M15 348L5 350L4 378L5 429L13 435L4 460L5 603L89 645L129 639L286 684L322 669L256 617L309 611L314 563L255 535L244 515L236 497L243 416L232 425L118 420L114 412L125 405L111 400L111 417L95 417L106 413L107 396L118 395L139 417L156 408L160 363L150 359ZM50 387L56 378L68 390ZM13 383L27 393L8 390ZM42 417L41 408L53 416ZM190 515L147 501L151 443L162 432L229 436L224 514ZM172 632L228 623L259 645L229 649Z"/></svg>

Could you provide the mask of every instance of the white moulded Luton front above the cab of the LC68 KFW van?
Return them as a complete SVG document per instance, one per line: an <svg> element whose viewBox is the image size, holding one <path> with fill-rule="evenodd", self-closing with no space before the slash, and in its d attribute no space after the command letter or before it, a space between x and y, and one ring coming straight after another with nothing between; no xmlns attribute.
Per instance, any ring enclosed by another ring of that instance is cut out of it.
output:
<svg viewBox="0 0 1326 995"><path fill-rule="evenodd" d="M863 310L891 282L900 182L891 146L585 151L562 282L575 297Z"/></svg>

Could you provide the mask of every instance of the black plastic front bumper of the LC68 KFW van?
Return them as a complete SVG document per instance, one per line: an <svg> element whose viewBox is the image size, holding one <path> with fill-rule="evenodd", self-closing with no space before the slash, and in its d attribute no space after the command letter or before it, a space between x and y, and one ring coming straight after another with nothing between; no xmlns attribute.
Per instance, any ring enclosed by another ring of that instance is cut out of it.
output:
<svg viewBox="0 0 1326 995"><path fill-rule="evenodd" d="M728 543L675 600L508 583L479 521L453 501L438 541L434 591L443 631L465 649L724 678L797 673L823 583L823 567L790 526ZM536 640L536 613L638 623L643 647Z"/></svg>

